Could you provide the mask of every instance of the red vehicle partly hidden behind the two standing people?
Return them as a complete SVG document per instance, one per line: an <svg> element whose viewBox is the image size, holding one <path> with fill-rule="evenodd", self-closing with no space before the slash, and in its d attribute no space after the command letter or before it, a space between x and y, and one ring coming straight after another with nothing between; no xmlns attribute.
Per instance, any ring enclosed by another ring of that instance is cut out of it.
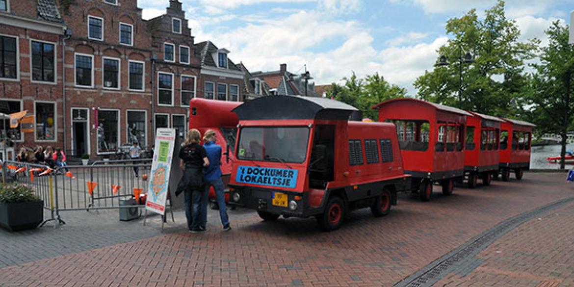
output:
<svg viewBox="0 0 574 287"><path fill-rule="evenodd" d="M234 150L237 123L239 122L237 115L231 110L240 104L242 103L202 98L193 98L189 101L189 129L197 129L201 135L208 129L218 131L217 144L222 147L224 153L229 154L227 160L222 161L221 165L226 201L229 201L227 184L231 176L231 164L234 159L232 152L229 151ZM213 187L210 189L210 207L218 209Z"/></svg>

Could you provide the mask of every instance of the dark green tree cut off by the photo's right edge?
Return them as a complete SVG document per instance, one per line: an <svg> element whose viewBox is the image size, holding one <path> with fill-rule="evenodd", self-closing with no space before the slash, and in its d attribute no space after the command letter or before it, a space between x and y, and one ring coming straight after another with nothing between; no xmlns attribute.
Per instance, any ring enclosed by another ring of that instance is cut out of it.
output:
<svg viewBox="0 0 574 287"><path fill-rule="evenodd" d="M548 30L548 46L540 48L540 63L531 64L529 88L524 95L530 106L529 114L538 130L560 134L560 169L564 169L564 156L568 129L573 127L574 48L568 44L568 26L553 22Z"/></svg>

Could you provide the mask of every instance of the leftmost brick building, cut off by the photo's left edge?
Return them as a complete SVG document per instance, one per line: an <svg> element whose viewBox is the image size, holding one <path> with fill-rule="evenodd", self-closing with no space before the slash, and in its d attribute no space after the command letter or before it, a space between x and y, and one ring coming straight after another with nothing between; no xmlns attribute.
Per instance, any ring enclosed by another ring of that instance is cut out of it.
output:
<svg viewBox="0 0 574 287"><path fill-rule="evenodd" d="M54 0L0 0L0 112L28 110L34 131L4 131L22 145L60 146L64 138L63 35L65 26Z"/></svg>

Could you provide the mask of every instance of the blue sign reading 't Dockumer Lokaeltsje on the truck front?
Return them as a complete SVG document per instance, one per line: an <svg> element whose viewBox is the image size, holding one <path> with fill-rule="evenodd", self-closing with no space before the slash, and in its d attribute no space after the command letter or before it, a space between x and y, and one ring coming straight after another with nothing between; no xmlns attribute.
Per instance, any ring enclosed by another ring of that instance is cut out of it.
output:
<svg viewBox="0 0 574 287"><path fill-rule="evenodd" d="M297 172L295 169L256 168L255 166L240 165L237 168L235 181L270 187L295 188Z"/></svg>

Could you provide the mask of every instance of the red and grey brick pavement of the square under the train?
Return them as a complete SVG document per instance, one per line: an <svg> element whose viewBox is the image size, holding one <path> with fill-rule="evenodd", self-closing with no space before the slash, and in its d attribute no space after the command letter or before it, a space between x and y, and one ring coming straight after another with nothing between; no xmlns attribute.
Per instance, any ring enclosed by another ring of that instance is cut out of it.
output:
<svg viewBox="0 0 574 287"><path fill-rule="evenodd" d="M165 234L158 216L143 227L118 222L117 212L69 212L58 230L0 231L0 285L390 286L506 219L574 196L564 179L527 173L450 197L436 187L429 203L403 194L390 215L355 211L335 232L319 231L314 219L265 223L246 210L230 211L230 232L211 211L205 234L185 232L183 212ZM515 227L480 250L474 268L445 274L437 286L574 284L572 207Z"/></svg>

